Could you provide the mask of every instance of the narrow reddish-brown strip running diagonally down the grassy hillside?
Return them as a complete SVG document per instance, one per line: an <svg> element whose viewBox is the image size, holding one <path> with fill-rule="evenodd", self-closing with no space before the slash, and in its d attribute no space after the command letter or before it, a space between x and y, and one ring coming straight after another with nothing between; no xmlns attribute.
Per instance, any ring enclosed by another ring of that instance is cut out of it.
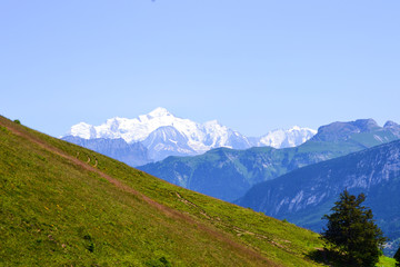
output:
<svg viewBox="0 0 400 267"><path fill-rule="evenodd" d="M140 198L142 198L146 202L148 202L150 206L157 208L158 210L162 211L164 215L167 215L168 217L174 218L174 219L180 219L183 220L186 222L189 222L191 225L196 225L199 229L208 233L210 236L217 238L218 240L231 246L232 248L234 248L236 250L239 250L246 255L248 255L251 258L258 259L258 260L263 260L266 263L268 263L268 266L279 266L274 263L271 263L269 259L267 259L266 257L263 257L261 254L257 253L256 250L251 249L250 247L237 243L234 240L232 240L227 234L224 233L220 233L216 229L210 228L210 226L204 225L201 221L194 220L192 217L190 217L189 215L182 214L176 209L172 209L170 207L167 207L164 205L161 205L157 201L154 201L153 199L147 197L146 195L134 190L133 188L124 185L123 182L121 182L120 180L100 171L98 168L92 167L90 165L88 165L87 162L83 162L81 160L79 160L76 157L72 157L68 154L66 154L64 151L44 142L43 140L32 136L31 134L27 132L23 127L19 126L19 125L14 125L12 122L9 123L4 123L3 121L4 119L1 118L0 119L0 125L7 127L7 129L9 129L10 131L12 131L14 135L20 136L24 139L28 139L37 145L39 145L40 147L44 148L46 150L49 150L64 159L68 159L69 161L80 166L82 169L92 171L98 174L100 177L107 179L110 184L114 185L116 187L118 187L119 189L126 191L126 192L130 192L134 196L139 196ZM8 121L7 121L8 122ZM79 156L79 154L77 155L77 157ZM88 157L89 158L89 157ZM90 160L89 160L90 161ZM96 164L97 166L97 164ZM188 201L188 200L187 200ZM189 201L188 201L189 202ZM191 205L194 205L192 202L190 202ZM197 207L197 205L194 205ZM206 212L204 216L209 217Z"/></svg>

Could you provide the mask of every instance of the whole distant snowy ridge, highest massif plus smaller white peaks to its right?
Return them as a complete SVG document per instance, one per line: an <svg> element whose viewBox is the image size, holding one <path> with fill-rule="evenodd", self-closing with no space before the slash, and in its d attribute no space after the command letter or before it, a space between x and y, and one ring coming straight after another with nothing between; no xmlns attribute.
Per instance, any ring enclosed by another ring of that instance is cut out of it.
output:
<svg viewBox="0 0 400 267"><path fill-rule="evenodd" d="M249 138L240 132L220 125L217 120L198 123L189 119L174 117L164 108L157 108L148 115L141 115L134 119L112 118L100 126L92 126L80 122L71 127L69 132L62 137L63 140L86 146L84 140L92 140L90 144L99 152L104 149L101 141L108 139L109 146L112 140L123 139L127 146L141 144L147 149L146 157L132 158L127 150L120 149L120 140L113 148L117 159L123 160L131 166L137 162L152 162L162 160L169 156L196 156L213 148L248 149L251 147L271 146L274 148L294 147L310 139L317 131L309 128L293 127L289 130L274 130L258 138ZM73 138L71 138L73 137ZM82 139L82 140L80 140ZM133 155L143 155L142 148Z"/></svg>

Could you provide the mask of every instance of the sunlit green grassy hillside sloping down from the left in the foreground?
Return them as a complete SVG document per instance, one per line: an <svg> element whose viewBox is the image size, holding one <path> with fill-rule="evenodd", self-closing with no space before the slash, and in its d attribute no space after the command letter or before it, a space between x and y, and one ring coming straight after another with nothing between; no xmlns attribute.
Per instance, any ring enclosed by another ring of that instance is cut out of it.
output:
<svg viewBox="0 0 400 267"><path fill-rule="evenodd" d="M321 265L314 233L3 117L0 205L0 266Z"/></svg>

